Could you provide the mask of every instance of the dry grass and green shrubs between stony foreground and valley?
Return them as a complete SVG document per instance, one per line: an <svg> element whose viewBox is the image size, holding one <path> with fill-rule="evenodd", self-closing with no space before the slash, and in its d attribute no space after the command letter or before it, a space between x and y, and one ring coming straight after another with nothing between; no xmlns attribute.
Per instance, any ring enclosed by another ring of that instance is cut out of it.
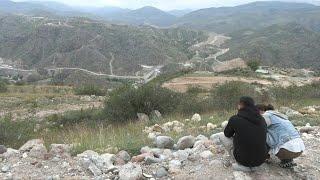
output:
<svg viewBox="0 0 320 180"><path fill-rule="evenodd" d="M269 93L276 97L276 101L264 93L257 92L255 85L241 82L219 85L210 92L190 88L187 93L173 93L165 89L155 89L159 88L156 84L151 83L139 89L129 87L118 89L110 94L106 103L115 103L113 106L117 107L119 112L117 115L122 116L121 113L131 113L129 120L135 119L136 112L148 113L154 109L162 112L164 117L162 120L150 122L123 121L125 123L119 124L114 122L119 122L120 118L111 121L110 116L108 116L110 109L101 108L51 115L41 123L32 118L29 121L14 122L12 121L13 117L8 115L1 118L0 143L8 147L19 148L27 140L42 138L46 145L52 143L74 144L74 154L87 149L101 153L127 150L131 154L137 154L141 147L152 146L152 142L146 138L143 129L145 126L151 126L155 123L163 124L175 120L183 122L185 124L183 132L164 134L173 137L175 140L184 135L203 134L209 136L216 131L220 131L219 128L214 131L207 131L205 126L209 122L219 125L221 122L228 120L230 116L236 113L236 103L242 95L253 96L259 103L271 101L277 107L286 105L299 109L307 105L320 103L319 84L288 87L288 89L280 87L270 89ZM28 104L34 103L34 106L41 105L41 102L34 98L34 94L39 94L40 97L51 94L56 98L58 96L73 96L74 93L73 89L69 87L60 87L60 89L56 87L56 90L54 87L36 86L19 86L19 88L9 86L8 92L4 94L17 95L21 98L23 94L29 94L32 97L30 100L23 98L26 102L29 101ZM289 96L290 94L294 94L294 96ZM0 97L5 98L3 94L0 94ZM112 100L113 98L117 101ZM123 105L124 102L132 103L130 105L132 111L128 111L128 107ZM185 119L190 119L193 113L201 113L202 121L185 121ZM316 116L294 117L292 121L296 125L305 125L307 122L312 125L320 124L319 118Z"/></svg>

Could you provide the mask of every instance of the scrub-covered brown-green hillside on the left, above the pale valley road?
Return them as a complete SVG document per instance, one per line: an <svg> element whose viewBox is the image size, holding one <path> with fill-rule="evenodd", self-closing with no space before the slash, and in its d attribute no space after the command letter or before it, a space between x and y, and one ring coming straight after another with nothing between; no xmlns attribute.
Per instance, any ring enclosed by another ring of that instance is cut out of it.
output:
<svg viewBox="0 0 320 180"><path fill-rule="evenodd" d="M191 57L201 32L110 25L83 18L0 16L0 57L22 68L79 67L117 75L140 64L163 65ZM110 61L112 63L110 63ZM111 64L111 65L110 65Z"/></svg>

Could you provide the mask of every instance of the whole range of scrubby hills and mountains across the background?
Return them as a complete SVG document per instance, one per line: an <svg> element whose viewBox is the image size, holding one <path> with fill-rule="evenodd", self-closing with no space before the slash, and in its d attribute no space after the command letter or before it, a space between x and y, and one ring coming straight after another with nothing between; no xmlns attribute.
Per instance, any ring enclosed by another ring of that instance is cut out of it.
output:
<svg viewBox="0 0 320 180"><path fill-rule="evenodd" d="M194 53L188 47L215 32L231 37L224 44L230 51L220 60L320 68L319 6L272 1L190 11L2 0L0 57L20 59L27 67L79 66L109 73L113 55L116 73L134 74L139 64L188 61Z"/></svg>

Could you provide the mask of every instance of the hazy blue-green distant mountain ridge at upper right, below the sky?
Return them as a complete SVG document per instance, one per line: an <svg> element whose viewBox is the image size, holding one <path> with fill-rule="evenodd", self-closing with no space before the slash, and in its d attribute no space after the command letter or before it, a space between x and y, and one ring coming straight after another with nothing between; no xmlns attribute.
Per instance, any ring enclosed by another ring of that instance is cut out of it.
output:
<svg viewBox="0 0 320 180"><path fill-rule="evenodd" d="M254 2L236 7L194 11L178 19L176 25L230 33L292 22L320 31L320 7L303 3Z"/></svg>

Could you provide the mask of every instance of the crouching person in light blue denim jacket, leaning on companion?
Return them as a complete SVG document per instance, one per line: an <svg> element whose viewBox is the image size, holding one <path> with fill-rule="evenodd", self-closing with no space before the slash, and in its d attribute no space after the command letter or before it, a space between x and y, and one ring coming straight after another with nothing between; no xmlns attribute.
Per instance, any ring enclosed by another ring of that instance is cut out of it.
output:
<svg viewBox="0 0 320 180"><path fill-rule="evenodd" d="M284 114L274 110L272 105L257 105L264 117L267 128L267 145L269 153L277 156L280 167L291 168L296 166L294 158L299 157L305 150L299 132Z"/></svg>

